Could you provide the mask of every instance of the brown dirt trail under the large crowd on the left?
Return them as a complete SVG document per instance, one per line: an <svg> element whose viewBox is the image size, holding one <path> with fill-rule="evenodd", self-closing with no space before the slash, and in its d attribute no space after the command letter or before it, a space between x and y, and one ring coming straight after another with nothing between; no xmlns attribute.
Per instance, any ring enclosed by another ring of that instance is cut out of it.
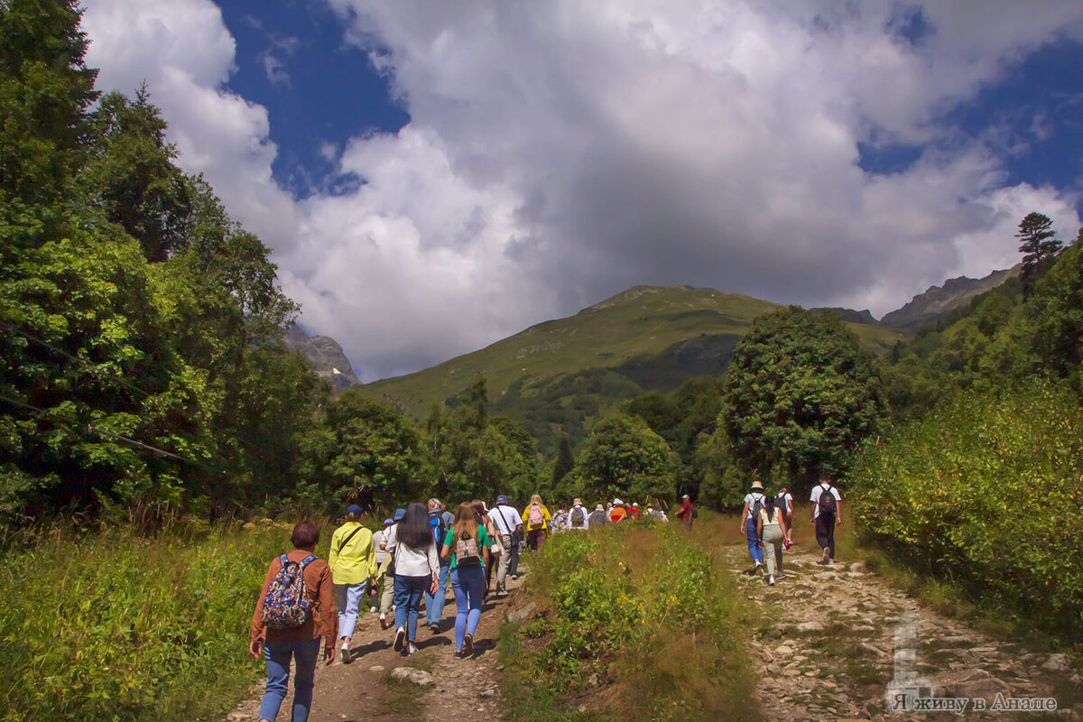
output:
<svg viewBox="0 0 1083 722"><path fill-rule="evenodd" d="M525 561L525 560L524 560ZM520 567L522 574L525 564ZM407 722L422 719L499 719L500 668L496 654L496 634L505 609L516 590L523 583L508 578L509 595L490 595L474 634L474 656L455 660L455 600L451 588L444 607L442 631L431 633L425 627L425 609L417 630L418 652L405 657L392 649L394 629L381 630L379 615L366 611L357 621L353 635L353 654L349 665L339 659L327 667L316 668L315 694L310 722L361 722L379 719L383 722ZM449 587L449 586L448 586ZM392 613L393 615L394 613ZM360 656L358 656L360 654ZM390 679L392 670L409 667L432 675L433 683L417 685ZM278 711L278 720L289 720L290 694ZM247 699L225 716L224 722L255 722L259 719L263 684L255 685ZM460 714L461 713L461 714ZM448 714L460 714L457 718Z"/></svg>

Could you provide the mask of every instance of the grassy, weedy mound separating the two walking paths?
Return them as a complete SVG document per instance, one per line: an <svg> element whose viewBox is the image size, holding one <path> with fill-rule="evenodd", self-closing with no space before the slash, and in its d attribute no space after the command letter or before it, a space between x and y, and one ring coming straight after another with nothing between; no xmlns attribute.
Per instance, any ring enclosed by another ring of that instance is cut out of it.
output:
<svg viewBox="0 0 1083 722"><path fill-rule="evenodd" d="M742 643L752 612L678 526L606 525L547 542L517 601L539 615L501 639L511 698L531 699L514 714L758 719Z"/></svg>

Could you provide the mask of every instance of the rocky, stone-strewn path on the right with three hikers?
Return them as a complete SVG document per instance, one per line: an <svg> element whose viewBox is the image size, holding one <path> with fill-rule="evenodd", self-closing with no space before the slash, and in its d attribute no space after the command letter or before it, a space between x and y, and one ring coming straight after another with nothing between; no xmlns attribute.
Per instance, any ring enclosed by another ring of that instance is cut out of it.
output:
<svg viewBox="0 0 1083 722"><path fill-rule="evenodd" d="M1045 719L1083 720L1083 680L1065 655L991 640L922 607L860 563L820 566L819 555L795 546L786 553L785 575L769 587L762 576L747 575L747 549L732 547L723 559L762 613L748 645L769 720L878 719L886 699L898 703L899 694L914 688L987 705L997 694L1053 697L1058 710ZM965 712L1009 719L1003 711L975 711L974 703ZM908 718L937 719L912 709L886 717Z"/></svg>

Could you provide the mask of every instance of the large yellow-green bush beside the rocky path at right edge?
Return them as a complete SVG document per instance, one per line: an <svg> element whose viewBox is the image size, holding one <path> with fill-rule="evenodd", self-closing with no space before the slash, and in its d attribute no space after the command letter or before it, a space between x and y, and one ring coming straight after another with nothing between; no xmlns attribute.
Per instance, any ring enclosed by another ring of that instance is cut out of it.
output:
<svg viewBox="0 0 1083 722"><path fill-rule="evenodd" d="M1064 384L965 393L869 445L864 537L1035 628L1083 632L1083 412Z"/></svg>

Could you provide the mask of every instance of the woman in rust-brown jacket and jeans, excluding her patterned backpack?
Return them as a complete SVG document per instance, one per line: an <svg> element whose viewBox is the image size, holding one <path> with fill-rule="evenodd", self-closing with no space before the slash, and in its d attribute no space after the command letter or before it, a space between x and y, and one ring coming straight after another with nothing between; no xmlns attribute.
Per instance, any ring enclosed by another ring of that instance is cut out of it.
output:
<svg viewBox="0 0 1083 722"><path fill-rule="evenodd" d="M309 719L319 640L324 640L324 660L329 665L335 661L335 640L338 638L338 609L335 605L331 568L314 554L319 541L319 529L312 522L301 522L293 527L290 541L293 543L293 551L285 556L288 561L302 565L304 593L312 602L312 612L299 627L275 629L264 623L263 603L268 589L282 569L282 557L272 560L252 614L251 641L248 644L251 655L258 659L262 651L266 662L268 686L260 703L260 720L268 722L272 722L278 714L282 700L286 697L291 658L297 662L291 719L293 722L305 722Z"/></svg>

